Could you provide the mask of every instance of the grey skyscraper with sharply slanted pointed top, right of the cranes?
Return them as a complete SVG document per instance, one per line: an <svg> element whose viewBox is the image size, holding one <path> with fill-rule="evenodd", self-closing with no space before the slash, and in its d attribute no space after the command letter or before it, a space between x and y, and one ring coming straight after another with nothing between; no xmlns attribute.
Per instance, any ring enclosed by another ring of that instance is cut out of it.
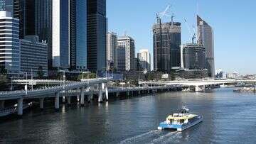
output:
<svg viewBox="0 0 256 144"><path fill-rule="evenodd" d="M200 16L197 16L197 26L198 44L206 48L206 68L208 69L208 76L215 77L213 28L211 28L206 21L203 21Z"/></svg>

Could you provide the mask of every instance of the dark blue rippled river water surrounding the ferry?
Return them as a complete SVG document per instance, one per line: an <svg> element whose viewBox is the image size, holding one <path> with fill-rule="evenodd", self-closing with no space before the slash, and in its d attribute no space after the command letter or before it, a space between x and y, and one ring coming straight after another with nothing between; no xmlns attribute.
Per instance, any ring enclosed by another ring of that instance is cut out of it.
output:
<svg viewBox="0 0 256 144"><path fill-rule="evenodd" d="M203 116L183 132L157 131L186 105ZM0 121L0 143L256 143L256 95L233 89L170 92L26 112Z"/></svg>

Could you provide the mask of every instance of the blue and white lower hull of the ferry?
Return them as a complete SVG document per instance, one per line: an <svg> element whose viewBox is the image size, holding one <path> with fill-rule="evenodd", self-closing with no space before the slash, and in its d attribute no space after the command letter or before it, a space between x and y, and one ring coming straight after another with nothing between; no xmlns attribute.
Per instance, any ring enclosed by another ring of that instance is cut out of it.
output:
<svg viewBox="0 0 256 144"><path fill-rule="evenodd" d="M198 123L201 123L203 121L203 118L198 118L197 121L193 121L192 123L186 123L182 125L174 125L174 124L169 124L166 122L162 122L159 124L158 130L164 130L165 128L171 128L171 129L176 129L177 131L184 131L187 128L190 128L191 126L195 126Z"/></svg>

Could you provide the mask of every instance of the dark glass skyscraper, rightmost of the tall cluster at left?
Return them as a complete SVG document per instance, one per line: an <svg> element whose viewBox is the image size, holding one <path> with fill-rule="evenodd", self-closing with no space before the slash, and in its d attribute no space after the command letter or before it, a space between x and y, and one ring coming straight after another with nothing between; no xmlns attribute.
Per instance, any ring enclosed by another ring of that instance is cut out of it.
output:
<svg viewBox="0 0 256 144"><path fill-rule="evenodd" d="M87 1L87 68L106 69L106 0Z"/></svg>

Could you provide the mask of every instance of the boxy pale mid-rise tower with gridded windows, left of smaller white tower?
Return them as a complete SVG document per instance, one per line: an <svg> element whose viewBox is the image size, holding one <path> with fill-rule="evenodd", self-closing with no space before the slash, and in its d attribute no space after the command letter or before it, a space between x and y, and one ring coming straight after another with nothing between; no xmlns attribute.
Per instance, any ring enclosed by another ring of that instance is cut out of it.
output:
<svg viewBox="0 0 256 144"><path fill-rule="evenodd" d="M117 61L124 59L125 60L125 70L135 70L135 44L134 39L129 36L122 36L118 38L118 50L125 50L125 57L120 57L117 53ZM123 60L122 60L123 61ZM118 66L117 66L118 67ZM119 68L117 68L119 69Z"/></svg>

